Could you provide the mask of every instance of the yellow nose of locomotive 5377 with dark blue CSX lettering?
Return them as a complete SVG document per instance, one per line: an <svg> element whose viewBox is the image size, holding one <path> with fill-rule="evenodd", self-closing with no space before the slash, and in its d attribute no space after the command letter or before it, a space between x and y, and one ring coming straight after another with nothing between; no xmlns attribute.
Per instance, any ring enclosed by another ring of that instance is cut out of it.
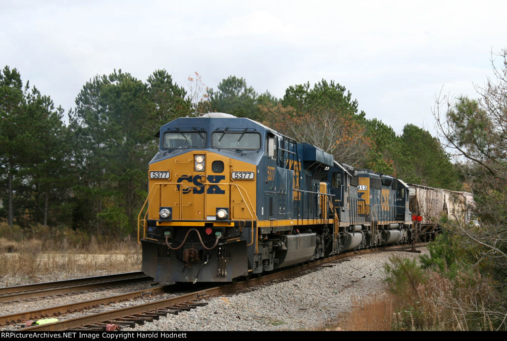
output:
<svg viewBox="0 0 507 341"><path fill-rule="evenodd" d="M151 164L150 174L167 172L169 177L150 178L148 220L159 226L250 220L256 209L256 181L231 176L239 171L255 174L256 165L204 150Z"/></svg>

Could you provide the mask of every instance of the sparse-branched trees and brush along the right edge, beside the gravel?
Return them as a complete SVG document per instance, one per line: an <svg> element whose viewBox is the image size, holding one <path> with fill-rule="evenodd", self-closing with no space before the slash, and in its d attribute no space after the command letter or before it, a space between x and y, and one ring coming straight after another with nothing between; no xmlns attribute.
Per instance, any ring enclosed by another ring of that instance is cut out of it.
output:
<svg viewBox="0 0 507 341"><path fill-rule="evenodd" d="M393 329L507 330L507 49L491 57L477 99L443 96L433 112L442 143L465 160L473 215L444 217L421 265L391 259Z"/></svg>

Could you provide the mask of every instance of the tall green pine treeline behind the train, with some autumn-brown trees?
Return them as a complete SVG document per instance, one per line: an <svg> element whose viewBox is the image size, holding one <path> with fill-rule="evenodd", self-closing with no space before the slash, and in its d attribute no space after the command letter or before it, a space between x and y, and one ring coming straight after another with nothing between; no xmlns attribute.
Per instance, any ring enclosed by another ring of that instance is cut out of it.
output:
<svg viewBox="0 0 507 341"><path fill-rule="evenodd" d="M155 133L177 117L208 111L262 122L354 166L460 187L438 139L414 125L396 136L381 121L367 120L333 81L290 86L277 99L233 76L214 90L196 73L187 91L165 70L146 82L115 70L83 86L64 124L64 110L6 66L0 73L0 219L97 236L132 233L158 148Z"/></svg>

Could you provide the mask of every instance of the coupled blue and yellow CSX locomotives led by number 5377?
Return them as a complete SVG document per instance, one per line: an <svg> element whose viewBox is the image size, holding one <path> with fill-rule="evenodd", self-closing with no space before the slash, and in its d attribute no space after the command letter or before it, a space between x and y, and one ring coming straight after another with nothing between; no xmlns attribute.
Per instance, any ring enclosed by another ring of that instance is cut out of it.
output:
<svg viewBox="0 0 507 341"><path fill-rule="evenodd" d="M163 125L138 217L156 281L231 282L414 240L409 185L226 113Z"/></svg>

